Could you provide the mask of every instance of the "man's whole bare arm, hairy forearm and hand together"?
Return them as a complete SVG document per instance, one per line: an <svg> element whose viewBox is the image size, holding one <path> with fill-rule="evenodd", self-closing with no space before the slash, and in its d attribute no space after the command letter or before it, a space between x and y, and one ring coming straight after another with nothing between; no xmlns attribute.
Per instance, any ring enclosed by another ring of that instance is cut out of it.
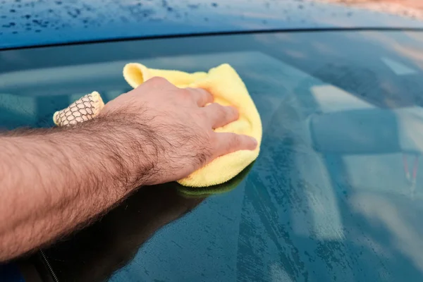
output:
<svg viewBox="0 0 423 282"><path fill-rule="evenodd" d="M0 261L82 226L140 185L255 149L252 137L214 132L238 112L212 102L152 78L90 121L0 135Z"/></svg>

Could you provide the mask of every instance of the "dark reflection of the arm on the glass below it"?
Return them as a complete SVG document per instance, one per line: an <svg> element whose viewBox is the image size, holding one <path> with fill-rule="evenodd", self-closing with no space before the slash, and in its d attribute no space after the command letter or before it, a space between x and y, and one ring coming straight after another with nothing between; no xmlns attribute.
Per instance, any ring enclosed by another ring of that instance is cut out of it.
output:
<svg viewBox="0 0 423 282"><path fill-rule="evenodd" d="M80 233L45 250L61 281L106 281L130 262L159 228L195 209L204 197L183 197L177 183L135 192L117 209Z"/></svg>

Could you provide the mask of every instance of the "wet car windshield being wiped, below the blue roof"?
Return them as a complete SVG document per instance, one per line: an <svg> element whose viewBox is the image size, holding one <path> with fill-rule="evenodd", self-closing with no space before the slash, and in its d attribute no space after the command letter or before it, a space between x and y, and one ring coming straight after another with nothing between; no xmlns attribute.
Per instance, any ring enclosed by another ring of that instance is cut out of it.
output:
<svg viewBox="0 0 423 282"><path fill-rule="evenodd" d="M59 281L422 281L423 33L270 32L0 51L0 127L130 90L128 62L230 63L262 118L237 187L141 188L43 250ZM421 148L422 147L422 148ZM188 213L189 212L189 213Z"/></svg>

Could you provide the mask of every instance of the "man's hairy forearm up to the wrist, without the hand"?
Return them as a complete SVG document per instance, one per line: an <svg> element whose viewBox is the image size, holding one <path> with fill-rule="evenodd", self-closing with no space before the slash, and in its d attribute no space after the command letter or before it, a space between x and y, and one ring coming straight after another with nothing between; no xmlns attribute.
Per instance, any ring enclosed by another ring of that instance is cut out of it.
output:
<svg viewBox="0 0 423 282"><path fill-rule="evenodd" d="M72 231L148 180L154 164L140 159L152 154L149 141L111 123L120 121L0 136L0 261Z"/></svg>

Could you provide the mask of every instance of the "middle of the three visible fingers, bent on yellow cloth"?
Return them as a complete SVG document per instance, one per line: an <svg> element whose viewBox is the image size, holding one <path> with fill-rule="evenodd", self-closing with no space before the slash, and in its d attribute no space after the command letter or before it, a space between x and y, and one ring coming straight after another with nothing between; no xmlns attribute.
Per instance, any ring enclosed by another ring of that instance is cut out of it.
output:
<svg viewBox="0 0 423 282"><path fill-rule="evenodd" d="M217 103L205 106L203 111L213 129L220 128L223 125L236 121L239 117L238 110L233 106L222 106Z"/></svg>

